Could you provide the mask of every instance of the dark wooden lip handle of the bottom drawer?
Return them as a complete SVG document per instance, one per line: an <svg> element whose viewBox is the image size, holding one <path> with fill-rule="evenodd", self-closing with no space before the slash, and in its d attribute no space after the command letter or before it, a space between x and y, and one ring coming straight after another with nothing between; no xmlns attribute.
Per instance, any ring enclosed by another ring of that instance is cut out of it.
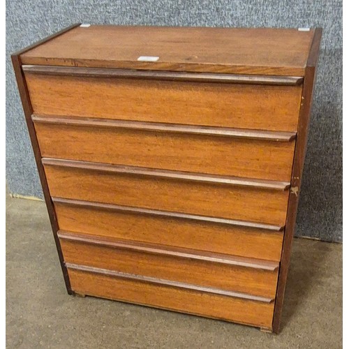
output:
<svg viewBox="0 0 349 349"><path fill-rule="evenodd" d="M110 269L89 267L87 265L77 265L77 264L66 262L66 267L68 269L75 269L75 270L79 270L81 272L103 274L106 276L113 276L113 277L116 277L119 279L141 281L144 283L155 283L158 285L165 285L165 286L170 286L170 287L175 287L175 288L185 288L187 290L193 290L193 291L195 290L195 291L200 291L200 292L213 293L215 295L235 297L235 298L246 299L246 300L251 300L251 301L255 301L255 302L262 302L262 303L268 303L268 304L271 304L272 302L274 302L274 298L269 298L269 297L250 295L248 293L243 293L243 292L222 290L221 288L213 288L213 287L207 287L207 286L193 285L191 283L181 283L179 281L171 281L171 280L167 280L167 279L158 279L158 278L154 278L151 276L128 274L128 273L123 273L123 272L117 272L117 271L110 270Z"/></svg>

